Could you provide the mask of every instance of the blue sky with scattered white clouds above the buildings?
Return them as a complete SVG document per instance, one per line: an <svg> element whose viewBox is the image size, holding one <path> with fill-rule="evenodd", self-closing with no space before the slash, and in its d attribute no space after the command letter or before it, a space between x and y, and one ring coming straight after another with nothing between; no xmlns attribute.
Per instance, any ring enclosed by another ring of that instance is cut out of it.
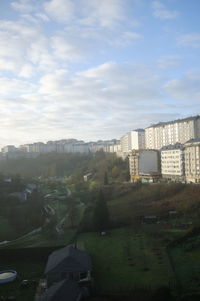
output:
<svg viewBox="0 0 200 301"><path fill-rule="evenodd" d="M199 0L0 0L0 147L200 113Z"/></svg>

